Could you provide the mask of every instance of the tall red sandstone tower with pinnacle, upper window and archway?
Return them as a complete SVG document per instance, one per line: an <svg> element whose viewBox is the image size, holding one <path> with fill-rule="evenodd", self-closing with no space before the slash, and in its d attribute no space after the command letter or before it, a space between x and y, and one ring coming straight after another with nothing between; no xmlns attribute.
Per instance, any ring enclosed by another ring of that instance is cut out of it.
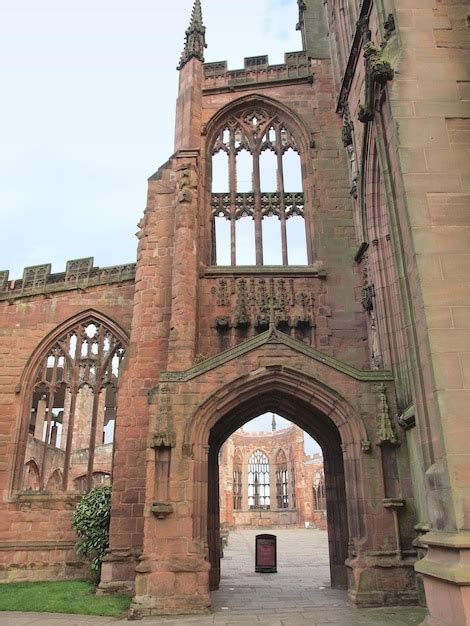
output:
<svg viewBox="0 0 470 626"><path fill-rule="evenodd" d="M135 579L139 614L210 605L218 452L265 411L322 445L332 584L357 604L416 599L393 374L370 360L325 18L308 6L316 36L302 21L280 65L204 63L199 0L186 31L175 152L138 235L101 583Z"/></svg>

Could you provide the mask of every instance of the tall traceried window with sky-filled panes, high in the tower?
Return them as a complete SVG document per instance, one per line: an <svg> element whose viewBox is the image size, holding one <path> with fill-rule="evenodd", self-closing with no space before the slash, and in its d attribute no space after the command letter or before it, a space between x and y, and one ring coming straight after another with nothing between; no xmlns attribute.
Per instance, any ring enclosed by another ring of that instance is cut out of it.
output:
<svg viewBox="0 0 470 626"><path fill-rule="evenodd" d="M299 148L276 114L232 116L212 149L212 263L306 265Z"/></svg>

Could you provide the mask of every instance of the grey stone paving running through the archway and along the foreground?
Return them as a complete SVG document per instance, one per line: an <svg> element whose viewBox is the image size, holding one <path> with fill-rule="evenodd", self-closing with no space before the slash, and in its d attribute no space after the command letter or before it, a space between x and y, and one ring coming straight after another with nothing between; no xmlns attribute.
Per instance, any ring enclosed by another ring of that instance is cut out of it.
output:
<svg viewBox="0 0 470 626"><path fill-rule="evenodd" d="M143 626L408 626L425 615L417 608L355 609L345 592L329 588L326 532L277 530L278 573L255 574L256 531L231 533L222 560L220 589L207 616L152 618ZM0 613L0 626L124 626L106 617Z"/></svg>

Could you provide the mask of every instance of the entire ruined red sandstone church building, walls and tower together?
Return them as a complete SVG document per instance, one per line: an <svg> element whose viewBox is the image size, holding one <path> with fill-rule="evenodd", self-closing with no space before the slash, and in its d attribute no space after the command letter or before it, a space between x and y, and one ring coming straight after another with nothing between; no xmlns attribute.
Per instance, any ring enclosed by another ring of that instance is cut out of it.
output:
<svg viewBox="0 0 470 626"><path fill-rule="evenodd" d="M135 265L0 272L1 580L79 572L71 510L112 474L100 589L132 589L135 617L206 611L218 455L272 411L322 447L332 584L364 606L425 590L426 623L470 620L467 12L328 1L326 23L298 4L303 50L228 71L203 62L196 0Z"/></svg>

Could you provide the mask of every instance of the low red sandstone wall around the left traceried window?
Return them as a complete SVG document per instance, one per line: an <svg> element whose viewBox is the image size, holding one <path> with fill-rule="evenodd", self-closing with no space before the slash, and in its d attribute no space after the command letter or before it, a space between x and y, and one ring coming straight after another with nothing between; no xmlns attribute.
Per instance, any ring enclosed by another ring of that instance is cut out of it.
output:
<svg viewBox="0 0 470 626"><path fill-rule="evenodd" d="M92 264L91 264L92 265ZM0 580L51 579L75 576L80 562L74 553L71 513L77 496L62 493L12 492L14 480L21 491L25 448L19 445L22 428L29 423L32 381L25 368L47 336L71 317L87 309L100 312L129 331L134 293L133 266L116 282L106 282L111 270L95 276L43 273L41 282L5 281L0 291ZM37 275L37 272L36 272ZM124 276L124 280L122 280ZM26 280L25 280L26 279ZM100 284L101 283L101 284ZM31 437L32 439L32 437ZM41 442L30 442L33 456ZM63 452L56 448L49 456ZM62 459L60 459L62 460ZM51 470L53 469L51 465Z"/></svg>

